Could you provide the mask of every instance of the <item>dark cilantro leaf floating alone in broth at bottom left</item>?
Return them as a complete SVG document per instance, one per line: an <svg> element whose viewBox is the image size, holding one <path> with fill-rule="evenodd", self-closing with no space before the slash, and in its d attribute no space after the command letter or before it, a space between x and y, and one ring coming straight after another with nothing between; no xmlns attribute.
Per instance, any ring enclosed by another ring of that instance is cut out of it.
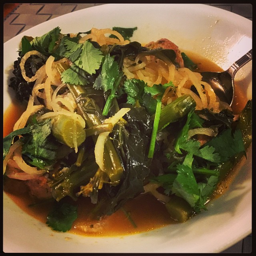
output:
<svg viewBox="0 0 256 256"><path fill-rule="evenodd" d="M77 218L77 206L60 202L55 204L47 216L46 224L53 230L66 232Z"/></svg>

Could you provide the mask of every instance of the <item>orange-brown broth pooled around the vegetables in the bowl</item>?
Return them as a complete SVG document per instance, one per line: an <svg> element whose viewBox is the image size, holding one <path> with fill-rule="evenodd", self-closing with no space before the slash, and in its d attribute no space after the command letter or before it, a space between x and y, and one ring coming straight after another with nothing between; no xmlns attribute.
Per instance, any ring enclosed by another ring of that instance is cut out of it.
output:
<svg viewBox="0 0 256 256"><path fill-rule="evenodd" d="M196 54L187 54L194 63L198 64L199 71L223 71L213 62L203 59ZM242 91L236 88L236 97L234 100L234 114L238 114L245 106L247 100ZM20 106L17 102L12 103L4 113L4 136L12 132L15 122L18 120L26 107ZM234 175L230 176L234 178ZM223 194L232 181L232 178L226 178L222 182L222 189L215 194L215 197ZM6 178L4 184L6 194L26 213L30 214L41 222L46 222L46 216L51 209L52 202L47 204L34 203L34 199L28 195L26 185L20 180ZM74 203L71 198L65 198L70 203ZM164 204L160 203L150 194L142 194L137 198L127 202L122 209L111 216L106 216L100 221L90 220L88 214L92 208L90 198L80 196L77 201L78 218L74 221L69 232L83 236L122 236L136 234L161 228L163 226L176 223L172 220L166 211ZM129 219L132 218L132 223ZM136 226L134 226L134 224Z"/></svg>

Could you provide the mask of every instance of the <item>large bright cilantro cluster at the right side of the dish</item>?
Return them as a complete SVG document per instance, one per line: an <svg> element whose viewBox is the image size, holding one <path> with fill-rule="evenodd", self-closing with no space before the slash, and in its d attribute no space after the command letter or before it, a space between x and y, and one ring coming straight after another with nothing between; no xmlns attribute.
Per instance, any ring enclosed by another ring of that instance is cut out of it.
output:
<svg viewBox="0 0 256 256"><path fill-rule="evenodd" d="M230 118L228 111L213 114L208 111L191 110L176 139L174 152L167 155L168 159L173 161L168 170L175 173L155 177L151 182L160 183L167 195L175 194L186 200L195 212L207 210L205 204L219 182L219 164L228 162L245 150L241 131L228 128ZM223 126L224 130L200 146L199 141L188 139L188 131L203 127L205 122L207 125ZM182 154L183 157L180 160L172 158L175 152ZM211 169L211 165L215 169Z"/></svg>

